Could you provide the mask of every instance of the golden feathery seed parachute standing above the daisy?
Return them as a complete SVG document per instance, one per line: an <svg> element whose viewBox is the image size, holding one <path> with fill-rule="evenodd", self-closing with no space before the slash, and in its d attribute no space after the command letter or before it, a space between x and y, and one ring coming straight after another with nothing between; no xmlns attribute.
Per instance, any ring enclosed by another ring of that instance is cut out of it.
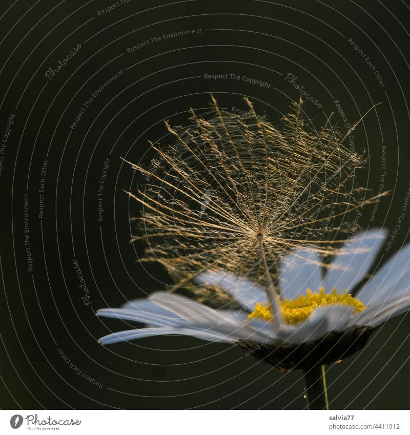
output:
<svg viewBox="0 0 410 435"><path fill-rule="evenodd" d="M330 233L365 201L355 181L362 156L343 144L357 124L342 134L328 119L317 131L299 101L276 128L247 98L248 115L212 100L208 116L192 110L190 127L167 123L175 143L152 143L154 165L131 163L146 183L130 195L143 205L133 240L147 243L144 261L165 266L174 288L220 304L228 296L195 287L197 274L223 268L263 284L261 238L275 280L278 258L294 248L329 254Z"/></svg>

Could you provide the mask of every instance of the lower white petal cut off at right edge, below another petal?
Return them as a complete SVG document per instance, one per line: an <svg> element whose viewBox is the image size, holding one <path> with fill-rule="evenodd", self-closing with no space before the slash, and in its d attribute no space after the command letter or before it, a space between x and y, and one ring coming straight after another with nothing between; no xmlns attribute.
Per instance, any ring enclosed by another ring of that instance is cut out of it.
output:
<svg viewBox="0 0 410 435"><path fill-rule="evenodd" d="M376 327L392 317L396 317L410 309L410 294L388 300L383 305L373 305L359 313L355 325Z"/></svg>

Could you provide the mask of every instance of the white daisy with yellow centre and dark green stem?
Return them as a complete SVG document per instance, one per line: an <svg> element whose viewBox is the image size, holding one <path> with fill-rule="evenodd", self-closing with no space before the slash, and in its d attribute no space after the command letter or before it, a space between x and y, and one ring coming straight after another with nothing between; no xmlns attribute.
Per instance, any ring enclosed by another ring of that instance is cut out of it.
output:
<svg viewBox="0 0 410 435"><path fill-rule="evenodd" d="M111 344L155 335L187 335L238 344L283 371L302 369L309 407L325 408L324 364L353 355L375 328L410 309L410 244L352 295L368 278L386 236L381 229L358 233L326 267L314 248L291 251L280 262L276 301L257 282L207 270L197 276L197 283L222 287L242 308L216 310L185 296L155 292L122 308L100 309L98 316L149 327L110 334L99 341Z"/></svg>

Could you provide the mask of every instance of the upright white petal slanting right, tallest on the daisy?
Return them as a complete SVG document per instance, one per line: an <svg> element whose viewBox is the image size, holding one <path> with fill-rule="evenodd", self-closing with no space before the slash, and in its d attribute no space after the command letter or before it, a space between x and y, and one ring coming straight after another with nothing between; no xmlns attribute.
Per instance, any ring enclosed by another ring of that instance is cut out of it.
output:
<svg viewBox="0 0 410 435"><path fill-rule="evenodd" d="M349 291L358 284L369 271L386 237L387 231L377 228L358 233L346 243L323 280L326 292L334 287Z"/></svg>

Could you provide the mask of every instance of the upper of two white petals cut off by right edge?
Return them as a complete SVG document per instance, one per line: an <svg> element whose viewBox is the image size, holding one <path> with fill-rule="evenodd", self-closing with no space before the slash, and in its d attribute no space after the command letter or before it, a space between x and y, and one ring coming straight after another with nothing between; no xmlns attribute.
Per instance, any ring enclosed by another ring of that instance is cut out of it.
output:
<svg viewBox="0 0 410 435"><path fill-rule="evenodd" d="M360 289L357 297L365 304L381 303L403 292L410 274L410 244L390 258Z"/></svg>

